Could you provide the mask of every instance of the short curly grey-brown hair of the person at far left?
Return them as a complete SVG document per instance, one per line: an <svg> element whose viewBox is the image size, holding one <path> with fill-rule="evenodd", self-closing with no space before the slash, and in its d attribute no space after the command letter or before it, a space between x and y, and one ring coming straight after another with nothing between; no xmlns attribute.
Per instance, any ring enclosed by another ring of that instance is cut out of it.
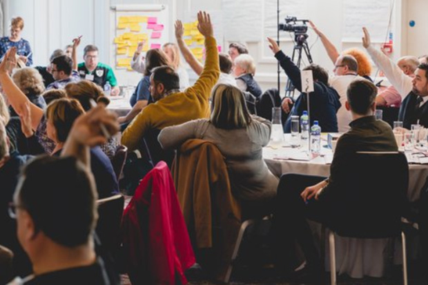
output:
<svg viewBox="0 0 428 285"><path fill-rule="evenodd" d="M18 69L12 79L25 95L41 95L45 90L43 78L35 68Z"/></svg>

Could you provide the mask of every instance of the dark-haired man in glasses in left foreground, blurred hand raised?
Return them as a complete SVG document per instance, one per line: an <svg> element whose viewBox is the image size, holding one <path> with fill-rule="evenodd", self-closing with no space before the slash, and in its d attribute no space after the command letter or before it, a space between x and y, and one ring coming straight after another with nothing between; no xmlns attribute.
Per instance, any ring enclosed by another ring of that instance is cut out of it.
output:
<svg viewBox="0 0 428 285"><path fill-rule="evenodd" d="M37 157L23 169L10 217L34 272L13 284L119 284L95 253L98 195L88 161L89 148L106 141L100 125L113 135L115 120L91 110L75 121L61 157Z"/></svg>

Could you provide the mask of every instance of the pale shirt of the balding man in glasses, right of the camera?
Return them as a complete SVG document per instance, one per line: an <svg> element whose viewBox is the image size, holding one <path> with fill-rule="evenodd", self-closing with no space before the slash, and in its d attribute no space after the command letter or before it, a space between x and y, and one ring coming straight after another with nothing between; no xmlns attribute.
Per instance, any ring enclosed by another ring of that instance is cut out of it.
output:
<svg viewBox="0 0 428 285"><path fill-rule="evenodd" d="M344 106L344 102L347 101L347 90L349 84L356 79L364 79L358 75L340 75L329 77L329 84L334 88L340 96L340 106L336 116L338 117L338 129L339 132L347 132L351 127L349 123L352 121L351 112Z"/></svg>

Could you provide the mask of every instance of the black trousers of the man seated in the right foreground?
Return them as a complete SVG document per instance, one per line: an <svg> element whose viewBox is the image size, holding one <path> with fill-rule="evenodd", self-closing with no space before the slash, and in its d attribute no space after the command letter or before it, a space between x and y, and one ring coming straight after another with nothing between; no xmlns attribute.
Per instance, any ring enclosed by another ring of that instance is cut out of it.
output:
<svg viewBox="0 0 428 285"><path fill-rule="evenodd" d="M326 177L282 175L273 212L273 240L276 265L292 271L295 267L295 242L298 242L308 266L320 266L320 255L313 243L307 219L322 224L329 221L329 207L322 200L312 198L305 203L300 193Z"/></svg>

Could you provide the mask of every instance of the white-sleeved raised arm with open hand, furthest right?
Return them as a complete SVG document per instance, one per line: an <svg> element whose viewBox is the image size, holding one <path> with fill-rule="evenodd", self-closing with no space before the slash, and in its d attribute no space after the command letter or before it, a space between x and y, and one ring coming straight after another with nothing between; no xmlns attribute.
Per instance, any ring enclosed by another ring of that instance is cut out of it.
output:
<svg viewBox="0 0 428 285"><path fill-rule="evenodd" d="M387 77L391 85L398 90L401 98L404 99L413 87L411 78L405 75L387 55L380 50L376 50L376 48L371 45L370 34L367 28L362 28L362 31L364 32L362 46L366 48L376 66L385 73L385 77Z"/></svg>

